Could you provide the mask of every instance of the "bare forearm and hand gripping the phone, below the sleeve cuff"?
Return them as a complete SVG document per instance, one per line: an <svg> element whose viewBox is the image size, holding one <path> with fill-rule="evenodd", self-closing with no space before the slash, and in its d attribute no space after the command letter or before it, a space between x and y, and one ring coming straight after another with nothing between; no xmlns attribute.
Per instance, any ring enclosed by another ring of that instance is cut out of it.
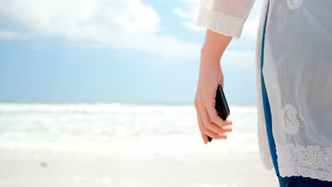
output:
<svg viewBox="0 0 332 187"><path fill-rule="evenodd" d="M209 142L208 136L214 139L226 139L226 132L232 131L229 126L232 125L232 122L220 118L215 108L218 83L223 86L220 59L231 39L226 35L208 30L201 50L199 81L194 106L204 144Z"/></svg>

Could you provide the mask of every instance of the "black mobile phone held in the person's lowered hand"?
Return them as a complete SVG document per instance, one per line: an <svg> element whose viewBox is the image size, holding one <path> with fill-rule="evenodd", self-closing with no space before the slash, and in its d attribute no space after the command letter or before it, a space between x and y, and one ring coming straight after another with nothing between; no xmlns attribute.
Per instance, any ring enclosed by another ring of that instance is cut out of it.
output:
<svg viewBox="0 0 332 187"><path fill-rule="evenodd" d="M225 94L223 94L223 87L220 83L218 84L218 88L216 91L216 111L218 113L218 116L223 120L226 120L228 118L228 115L230 114L226 96ZM213 138L209 137L209 142L211 142L212 140Z"/></svg>

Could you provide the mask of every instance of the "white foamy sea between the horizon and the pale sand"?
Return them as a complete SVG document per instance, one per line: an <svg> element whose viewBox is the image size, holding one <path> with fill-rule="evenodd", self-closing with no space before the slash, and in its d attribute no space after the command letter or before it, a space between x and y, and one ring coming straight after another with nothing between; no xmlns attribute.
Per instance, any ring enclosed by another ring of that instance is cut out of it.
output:
<svg viewBox="0 0 332 187"><path fill-rule="evenodd" d="M258 152L255 106L231 105L228 140L204 145L192 104L0 103L0 149L106 153Z"/></svg>

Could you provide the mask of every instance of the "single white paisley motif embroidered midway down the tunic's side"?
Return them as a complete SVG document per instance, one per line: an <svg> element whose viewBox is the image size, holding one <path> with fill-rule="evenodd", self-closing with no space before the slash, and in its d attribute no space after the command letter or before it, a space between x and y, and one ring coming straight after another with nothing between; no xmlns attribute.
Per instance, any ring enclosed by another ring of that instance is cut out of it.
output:
<svg viewBox="0 0 332 187"><path fill-rule="evenodd" d="M289 135L295 135L299 131L299 121L297 120L297 109L287 104L282 108L280 121L284 126L284 131Z"/></svg>

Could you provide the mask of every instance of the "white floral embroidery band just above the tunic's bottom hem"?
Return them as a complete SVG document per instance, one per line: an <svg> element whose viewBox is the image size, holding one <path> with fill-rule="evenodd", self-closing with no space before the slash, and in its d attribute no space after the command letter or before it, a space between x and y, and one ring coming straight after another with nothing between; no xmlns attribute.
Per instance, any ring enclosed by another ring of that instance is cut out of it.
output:
<svg viewBox="0 0 332 187"><path fill-rule="evenodd" d="M304 166L310 169L323 169L331 171L329 163L332 161L332 148L321 148L319 145L307 145L306 147L296 143L289 143L281 147L281 154L290 159L293 166Z"/></svg>

